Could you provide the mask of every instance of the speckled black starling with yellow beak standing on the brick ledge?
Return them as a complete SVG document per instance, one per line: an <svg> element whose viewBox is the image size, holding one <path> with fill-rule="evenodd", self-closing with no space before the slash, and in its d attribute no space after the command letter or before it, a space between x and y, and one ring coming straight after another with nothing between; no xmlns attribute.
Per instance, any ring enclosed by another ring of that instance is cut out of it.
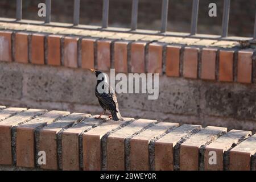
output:
<svg viewBox="0 0 256 182"><path fill-rule="evenodd" d="M96 69L92 69L92 68L90 69L90 71L94 72L96 75L97 84L95 87L95 95L98 98L98 102L100 103L103 109L103 112L97 118L101 118L101 115L104 115L106 113L106 110L109 110L111 113L111 115L109 115L109 118L112 117L114 121L118 121L118 120L123 121L123 118L118 108L117 96L115 95L113 88L109 85L109 80L106 73L97 71ZM101 77L98 77L99 75ZM98 78L101 78L101 80L99 80ZM98 90L99 84L102 85L102 91L104 92L99 92L100 91Z"/></svg>

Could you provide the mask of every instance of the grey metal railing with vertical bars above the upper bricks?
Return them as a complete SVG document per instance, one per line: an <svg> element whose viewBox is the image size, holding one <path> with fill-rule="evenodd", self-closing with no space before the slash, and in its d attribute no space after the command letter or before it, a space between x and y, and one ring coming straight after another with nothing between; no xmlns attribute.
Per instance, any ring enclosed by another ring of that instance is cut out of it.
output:
<svg viewBox="0 0 256 182"><path fill-rule="evenodd" d="M102 8L102 26L106 31L111 31L111 28L108 28L109 22L109 0L102 0L103 8ZM222 15L222 34L218 37L220 39L228 37L228 27L229 27L229 11L230 11L230 0L224 1L224 10ZM45 23L51 23L51 2L52 0L46 0L46 18ZM131 28L128 30L129 32L137 32L143 34L161 34L161 35L172 35L167 32L167 22L168 22L168 4L169 0L162 0L162 15L161 15L161 27L159 31L148 32L143 30L137 30L137 22L138 22L138 5L139 0L133 0L132 9L131 9ZM190 34L186 36L192 36L196 38L197 34L197 19L199 14L199 0L193 0L192 5L192 18L191 18L191 31ZM16 22L22 20L22 0L16 0ZM79 20L80 20L80 0L74 0L74 9L73 9L73 26L79 28ZM24 21L23 21L24 23ZM51 24L51 26L54 24ZM120 28L119 31L122 32ZM115 31L118 31L118 28L115 28ZM127 31L127 30L126 30ZM254 35L251 39L256 39L256 13L255 13L255 23L254 23ZM175 36L181 36L175 34ZM200 36L201 37L201 36ZM217 37L216 37L217 38ZM209 38L210 39L210 38Z"/></svg>

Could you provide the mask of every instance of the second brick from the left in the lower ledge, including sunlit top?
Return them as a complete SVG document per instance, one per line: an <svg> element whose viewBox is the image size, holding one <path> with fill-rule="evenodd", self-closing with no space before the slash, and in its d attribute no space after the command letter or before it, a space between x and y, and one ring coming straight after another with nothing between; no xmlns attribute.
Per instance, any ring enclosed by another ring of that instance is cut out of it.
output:
<svg viewBox="0 0 256 182"><path fill-rule="evenodd" d="M35 130L49 125L60 117L69 114L67 111L49 111L32 119L24 125L16 127L16 165L20 167L35 167Z"/></svg>

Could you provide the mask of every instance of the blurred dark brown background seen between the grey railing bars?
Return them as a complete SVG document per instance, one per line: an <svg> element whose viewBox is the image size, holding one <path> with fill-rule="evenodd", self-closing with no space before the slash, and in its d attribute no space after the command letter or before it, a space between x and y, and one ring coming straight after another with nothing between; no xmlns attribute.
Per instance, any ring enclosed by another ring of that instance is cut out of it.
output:
<svg viewBox="0 0 256 182"><path fill-rule="evenodd" d="M43 20L37 15L42 0L23 0L23 19ZM130 27L132 0L110 0L109 26ZM208 16L209 3L216 3L217 17ZM0 16L15 18L15 0L0 1ZM221 34L223 0L203 0L199 4L197 32ZM230 2L229 36L253 36L255 0L232 0ZM139 0L138 28L159 30L161 24L161 0ZM170 0L168 31L189 32L192 0ZM101 25L102 0L81 0L80 23ZM52 21L72 23L73 1L52 0Z"/></svg>

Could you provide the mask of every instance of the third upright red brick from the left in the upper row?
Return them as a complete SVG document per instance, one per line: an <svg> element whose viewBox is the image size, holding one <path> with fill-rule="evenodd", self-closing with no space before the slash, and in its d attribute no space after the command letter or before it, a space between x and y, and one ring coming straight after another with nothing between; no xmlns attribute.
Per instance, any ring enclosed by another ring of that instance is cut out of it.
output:
<svg viewBox="0 0 256 182"><path fill-rule="evenodd" d="M44 64L44 35L43 34L32 34L31 63Z"/></svg>

